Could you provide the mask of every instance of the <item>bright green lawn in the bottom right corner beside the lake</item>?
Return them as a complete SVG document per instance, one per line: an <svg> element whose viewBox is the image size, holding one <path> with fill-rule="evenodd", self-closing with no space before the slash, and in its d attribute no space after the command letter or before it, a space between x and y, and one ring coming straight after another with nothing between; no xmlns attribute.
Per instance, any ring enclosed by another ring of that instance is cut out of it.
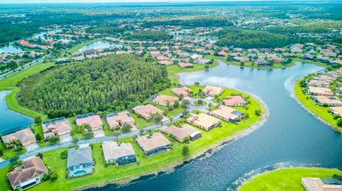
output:
<svg viewBox="0 0 342 191"><path fill-rule="evenodd" d="M284 168L264 173L249 180L240 187L239 191L305 191L303 185L301 185L301 178L331 178L334 173L341 174L342 172L327 168Z"/></svg>

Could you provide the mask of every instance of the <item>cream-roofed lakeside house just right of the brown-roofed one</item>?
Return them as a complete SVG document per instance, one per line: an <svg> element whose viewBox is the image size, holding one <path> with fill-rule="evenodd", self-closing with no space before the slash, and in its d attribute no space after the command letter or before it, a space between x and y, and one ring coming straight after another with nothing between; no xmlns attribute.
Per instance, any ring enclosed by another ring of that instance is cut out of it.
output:
<svg viewBox="0 0 342 191"><path fill-rule="evenodd" d="M220 120L214 116L209 116L208 114L192 114L189 118L187 118L187 122L194 126L197 126L200 129L204 129L205 131L209 131L214 129L221 124Z"/></svg>

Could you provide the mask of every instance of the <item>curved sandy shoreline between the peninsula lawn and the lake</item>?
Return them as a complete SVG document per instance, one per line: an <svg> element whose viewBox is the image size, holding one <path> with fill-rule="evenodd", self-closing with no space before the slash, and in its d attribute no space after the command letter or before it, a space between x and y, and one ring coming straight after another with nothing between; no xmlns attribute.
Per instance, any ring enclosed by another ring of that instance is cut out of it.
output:
<svg viewBox="0 0 342 191"><path fill-rule="evenodd" d="M118 187L123 187L125 185L130 185L131 183L134 183L133 182L134 180L138 180L139 178L142 178L143 176L147 176L147 175L155 176L155 175L158 175L159 173L172 173L175 171L175 168L177 168L180 165L185 165L190 160L202 160L204 158L209 157L210 155L219 151L221 148L231 143L232 141L235 141L239 138L249 135L249 133L252 133L253 131L259 129L259 127L263 126L266 123L269 117L269 108L266 106L264 102L262 102L262 100L259 97L254 97L254 95L251 95L251 96L253 97L253 99L257 100L257 102L259 102L259 104L261 105L261 108L262 108L261 117L258 121L255 121L254 124L252 124L251 126L245 129L242 129L241 131L235 133L234 135L223 138L222 140L217 141L217 143L214 143L212 146L204 148L202 151L198 151L197 153L190 155L188 158L175 161L174 163L167 165L167 167L159 168L157 170L152 170L146 173L141 173L139 175L133 175L128 178L121 178L118 180L110 180L108 182L95 183L93 185L88 185L85 187L78 187L73 190L86 190L86 189L95 188L95 187L105 187L106 185L110 185L110 184L115 184Z"/></svg>

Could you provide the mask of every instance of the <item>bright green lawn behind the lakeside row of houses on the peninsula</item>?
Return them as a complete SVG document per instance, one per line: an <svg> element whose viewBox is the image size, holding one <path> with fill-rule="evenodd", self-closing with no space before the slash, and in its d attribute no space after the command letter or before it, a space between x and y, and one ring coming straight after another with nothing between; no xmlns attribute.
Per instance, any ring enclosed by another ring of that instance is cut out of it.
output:
<svg viewBox="0 0 342 191"><path fill-rule="evenodd" d="M226 89L227 92L236 92L232 89ZM202 151L204 148L208 148L212 146L217 141L221 141L224 138L234 135L241 131L242 129L246 129L251 126L254 122L260 119L260 116L256 116L254 114L255 109L261 109L260 104L251 98L251 104L249 105L249 110L247 113L250 118L247 121L241 121L239 124L231 124L226 121L222 121L222 127L212 129L212 131L202 131L202 137L197 139L196 141L191 141L188 144L178 143L176 141L172 141L173 149L171 151L167 151L165 153L160 153L158 155L154 155L152 157L145 158L145 154L139 148L138 144L133 141L133 138L125 138L125 142L133 143L133 147L135 148L135 153L138 156L139 163L133 165L125 165L122 167L116 167L113 165L109 165L105 167L103 160L103 153L100 149L100 143L96 143L93 148L93 158L95 159L95 173L93 175L86 175L81 178L73 178L66 179L66 160L61 160L59 155L61 151L65 151L67 148L59 148L54 151L48 151L47 153L43 153L43 160L46 165L51 168L51 170L56 171L58 174L58 180L56 182L51 182L48 180L47 182L43 182L36 187L33 187L31 190L55 190L56 187L59 187L60 190L72 190L79 187L89 186L92 184L100 183L100 182L108 182L113 180L120 180L123 178L129 178L134 175L140 175L142 173L147 173L152 170L157 170L163 167L167 167L172 163L175 163L179 160L183 160L187 158L187 156L182 155L182 147L187 145L190 148L190 155L193 155L199 151ZM134 114L133 114L134 117ZM4 174L7 168L3 168L0 170L0 174ZM5 185L4 187L9 187L6 178L2 178L0 180L0 185Z"/></svg>

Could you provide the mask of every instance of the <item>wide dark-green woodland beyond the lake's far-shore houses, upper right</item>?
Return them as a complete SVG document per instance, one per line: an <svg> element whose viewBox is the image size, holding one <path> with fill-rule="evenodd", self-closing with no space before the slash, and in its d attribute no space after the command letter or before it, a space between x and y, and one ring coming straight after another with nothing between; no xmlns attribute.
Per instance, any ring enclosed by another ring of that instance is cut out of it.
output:
<svg viewBox="0 0 342 191"><path fill-rule="evenodd" d="M312 38L297 38L284 34L270 33L268 31L255 31L242 28L225 28L220 31L219 46L231 46L240 48L276 48L284 47L291 43L318 43Z"/></svg>

